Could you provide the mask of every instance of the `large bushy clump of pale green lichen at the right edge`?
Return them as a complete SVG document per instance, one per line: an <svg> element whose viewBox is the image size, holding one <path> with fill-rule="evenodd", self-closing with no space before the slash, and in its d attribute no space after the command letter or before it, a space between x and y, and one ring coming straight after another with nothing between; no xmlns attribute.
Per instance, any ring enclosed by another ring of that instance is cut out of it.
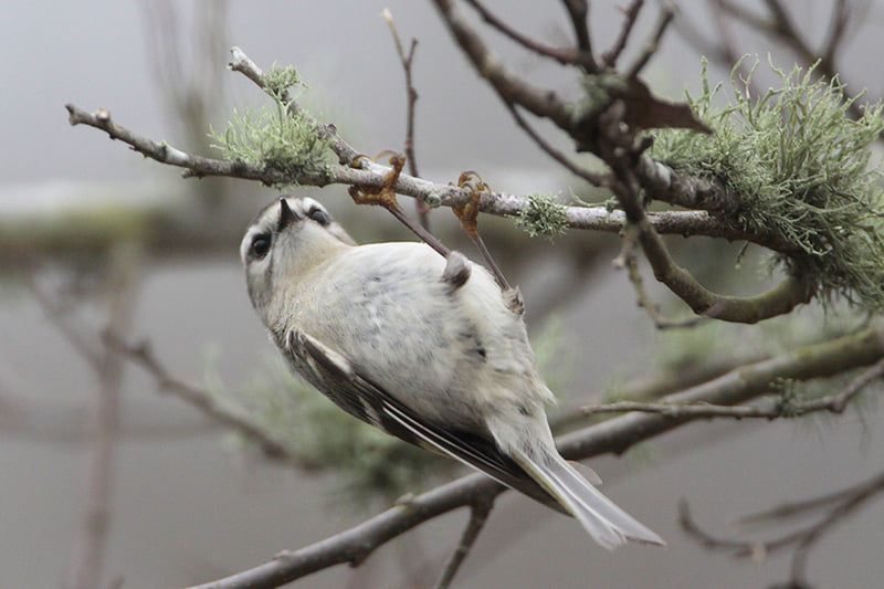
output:
<svg viewBox="0 0 884 589"><path fill-rule="evenodd" d="M818 80L812 67L771 70L781 87L750 99L751 74L732 76L734 99L717 107L722 85L709 87L704 61L702 92L688 102L714 134L657 130L650 154L722 182L730 194L723 221L794 244L801 254L775 262L810 277L824 304L840 295L884 309L884 198L870 167L882 107L865 106L854 120L838 80Z"/></svg>

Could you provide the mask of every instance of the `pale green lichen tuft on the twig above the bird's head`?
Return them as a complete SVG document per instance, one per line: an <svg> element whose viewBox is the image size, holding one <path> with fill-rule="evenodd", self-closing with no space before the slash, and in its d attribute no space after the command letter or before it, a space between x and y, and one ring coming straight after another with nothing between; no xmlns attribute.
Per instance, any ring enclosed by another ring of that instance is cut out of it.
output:
<svg viewBox="0 0 884 589"><path fill-rule="evenodd" d="M288 91L301 84L294 67L274 67L264 76L272 107L233 111L223 133L211 129L212 147L227 159L282 172L295 183L301 175L323 173L332 162L328 138L304 111L291 113Z"/></svg>

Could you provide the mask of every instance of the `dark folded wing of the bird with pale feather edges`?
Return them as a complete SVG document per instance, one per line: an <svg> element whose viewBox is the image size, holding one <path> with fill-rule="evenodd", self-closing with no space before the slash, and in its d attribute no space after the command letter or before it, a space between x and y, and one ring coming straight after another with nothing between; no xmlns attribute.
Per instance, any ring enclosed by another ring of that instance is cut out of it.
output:
<svg viewBox="0 0 884 589"><path fill-rule="evenodd" d="M323 388L327 396L347 412L401 440L482 471L498 483L561 511L558 503L493 441L422 419L372 382L344 355L304 332L290 332L286 348L306 361L316 380L325 385Z"/></svg>

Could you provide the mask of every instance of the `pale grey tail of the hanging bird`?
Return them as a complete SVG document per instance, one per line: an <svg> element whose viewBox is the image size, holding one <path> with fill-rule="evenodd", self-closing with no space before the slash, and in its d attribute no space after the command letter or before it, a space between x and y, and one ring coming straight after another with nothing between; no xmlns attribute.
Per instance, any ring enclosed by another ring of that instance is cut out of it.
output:
<svg viewBox="0 0 884 589"><path fill-rule="evenodd" d="M513 456L565 509L582 524L590 536L608 549L628 540L664 546L654 532L602 495L558 452L543 451L541 457L525 452Z"/></svg>

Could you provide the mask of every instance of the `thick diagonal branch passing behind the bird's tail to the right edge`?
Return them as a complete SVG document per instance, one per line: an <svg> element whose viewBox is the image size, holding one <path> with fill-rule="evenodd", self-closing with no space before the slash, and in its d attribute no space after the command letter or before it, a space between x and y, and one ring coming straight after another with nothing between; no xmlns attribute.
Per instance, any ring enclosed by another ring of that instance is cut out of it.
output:
<svg viewBox="0 0 884 589"><path fill-rule="evenodd" d="M738 404L764 395L781 379L808 380L830 377L869 366L884 357L884 330L866 329L823 344L732 370L703 385L665 398L669 403L709 402ZM692 421L660 414L632 413L586 428L558 439L562 455L583 460L604 453L622 453L632 445ZM371 551L409 529L471 505L478 496L495 496L504 490L482 474L471 474L428 491L366 522L317 544L283 551L274 559L201 589L261 589L277 587L307 575L346 562L360 562Z"/></svg>

